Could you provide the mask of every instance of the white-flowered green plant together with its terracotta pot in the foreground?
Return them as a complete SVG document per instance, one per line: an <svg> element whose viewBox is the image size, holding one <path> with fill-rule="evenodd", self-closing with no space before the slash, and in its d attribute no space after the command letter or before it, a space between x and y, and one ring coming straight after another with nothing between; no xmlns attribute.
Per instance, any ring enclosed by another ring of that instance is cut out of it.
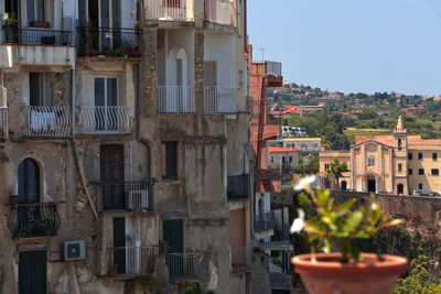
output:
<svg viewBox="0 0 441 294"><path fill-rule="evenodd" d="M316 215L304 220L299 209L291 232L304 230L309 241L320 246L325 253L293 257L294 271L301 276L311 294L320 293L389 293L397 277L405 271L407 260L396 255L362 253L355 246L357 239L374 237L380 229L396 226L400 219L388 220L385 210L372 198L367 207L354 208L355 199L335 204L329 189L310 188L312 177L300 181L294 189L304 189L316 206ZM330 253L333 246L340 253Z"/></svg>

